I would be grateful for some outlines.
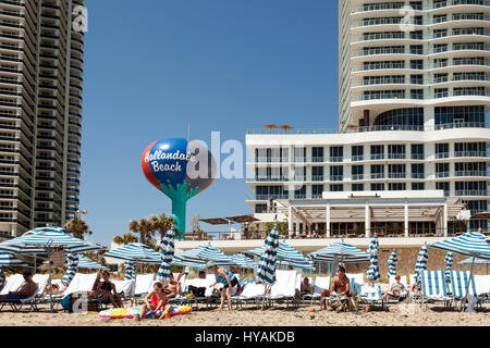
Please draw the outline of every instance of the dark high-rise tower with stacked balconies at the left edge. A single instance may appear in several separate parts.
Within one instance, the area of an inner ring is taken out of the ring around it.
[[[0,1],[0,236],[62,225],[78,208],[81,5]]]

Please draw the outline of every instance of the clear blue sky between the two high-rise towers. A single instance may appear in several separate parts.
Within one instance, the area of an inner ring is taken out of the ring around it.
[[[79,208],[95,243],[109,245],[131,219],[171,212],[140,169],[157,139],[185,138],[188,126],[208,144],[213,130],[244,144],[247,128],[269,123],[336,128],[336,1],[87,0],[87,9]],[[245,179],[215,181],[188,201],[187,227],[196,213],[252,213],[250,192]]]

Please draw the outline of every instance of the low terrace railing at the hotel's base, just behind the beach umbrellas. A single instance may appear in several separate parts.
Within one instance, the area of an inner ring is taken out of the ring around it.
[[[403,238],[405,237],[405,232],[403,228],[392,229],[390,232],[384,231],[375,231],[371,229],[371,235],[376,235],[380,238]],[[466,233],[465,228],[450,228],[448,232],[449,237],[458,236]],[[485,235],[490,236],[490,232],[482,232]],[[442,237],[444,236],[443,228],[432,228],[428,231],[413,232],[408,233],[408,237]],[[267,232],[265,231],[254,231],[254,232],[208,232],[208,233],[185,233],[184,240],[186,241],[203,241],[203,240],[262,240],[266,239]],[[281,235],[280,239],[324,239],[326,233],[315,233],[315,234],[306,234],[304,232],[299,233],[299,235],[293,235],[290,237],[289,235]],[[345,239],[345,238],[366,238],[364,233],[358,233],[354,231],[347,232],[339,232],[331,231],[330,238],[333,239]]]

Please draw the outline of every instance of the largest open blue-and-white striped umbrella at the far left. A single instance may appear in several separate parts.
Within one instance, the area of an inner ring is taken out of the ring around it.
[[[0,243],[0,251],[14,253],[46,253],[52,248],[61,248],[69,253],[103,249],[100,246],[72,237],[66,229],[58,227],[35,228],[21,237]]]

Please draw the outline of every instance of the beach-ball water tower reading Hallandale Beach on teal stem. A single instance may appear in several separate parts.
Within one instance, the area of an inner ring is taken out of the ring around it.
[[[216,161],[206,145],[181,138],[155,141],[143,153],[142,169],[148,182],[171,199],[175,229],[185,233],[187,200],[216,177]]]

